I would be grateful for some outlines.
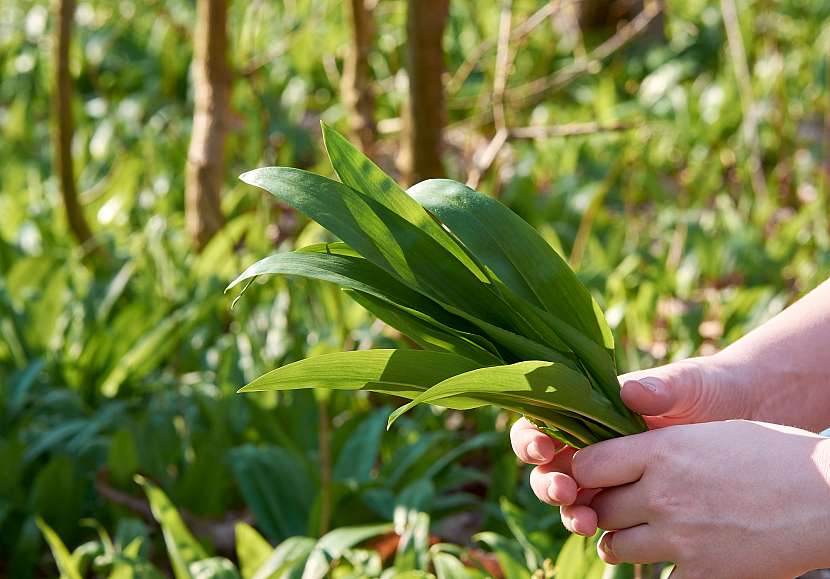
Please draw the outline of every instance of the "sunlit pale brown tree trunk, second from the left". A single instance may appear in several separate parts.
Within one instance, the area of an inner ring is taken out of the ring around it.
[[[224,224],[220,193],[225,173],[230,81],[227,0],[198,0],[193,50],[193,133],[187,152],[186,221],[197,249]]]

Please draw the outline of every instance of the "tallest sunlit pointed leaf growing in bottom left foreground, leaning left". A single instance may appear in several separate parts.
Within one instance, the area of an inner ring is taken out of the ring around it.
[[[142,476],[137,475],[135,480],[144,488],[153,518],[161,526],[164,543],[167,545],[167,555],[176,579],[193,579],[190,565],[207,559],[207,552],[190,534],[181,515],[167,495]]]

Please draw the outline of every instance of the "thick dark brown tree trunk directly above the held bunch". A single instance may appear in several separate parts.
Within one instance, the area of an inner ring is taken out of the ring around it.
[[[442,39],[449,0],[408,0],[407,9],[409,103],[401,165],[404,178],[411,184],[444,176],[441,153],[446,110]]]

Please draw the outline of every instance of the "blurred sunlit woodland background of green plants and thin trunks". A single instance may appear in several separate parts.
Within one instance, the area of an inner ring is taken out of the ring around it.
[[[67,577],[601,575],[588,543],[554,564],[512,416],[386,433],[379,396],[235,394],[406,343],[322,284],[231,308],[244,267],[323,236],[236,175],[328,173],[322,119],[402,181],[477,185],[643,368],[830,274],[828,58],[827,1],[4,0],[0,575],[54,575],[47,541]]]

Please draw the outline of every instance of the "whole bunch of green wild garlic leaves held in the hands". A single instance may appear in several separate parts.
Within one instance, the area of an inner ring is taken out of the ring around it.
[[[288,167],[241,179],[276,195],[341,242],[267,257],[264,274],[338,284],[423,349],[338,352],[287,364],[240,392],[369,390],[465,410],[519,412],[581,448],[645,429],[622,404],[611,331],[565,261],[518,215],[461,183],[404,191],[323,126],[340,182]]]

